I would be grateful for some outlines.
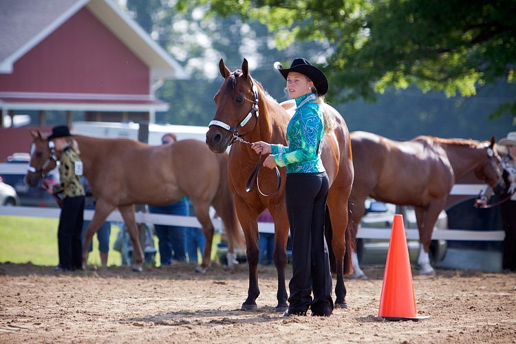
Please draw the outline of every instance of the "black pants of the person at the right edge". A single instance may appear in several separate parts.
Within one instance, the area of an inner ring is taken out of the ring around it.
[[[500,204],[505,239],[502,269],[516,271],[516,201]]]

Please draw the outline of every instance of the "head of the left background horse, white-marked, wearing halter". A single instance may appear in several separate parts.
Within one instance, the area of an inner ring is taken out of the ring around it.
[[[30,131],[30,135],[30,161],[24,181],[28,186],[35,187],[56,167],[57,158],[54,142],[47,140],[40,131]]]

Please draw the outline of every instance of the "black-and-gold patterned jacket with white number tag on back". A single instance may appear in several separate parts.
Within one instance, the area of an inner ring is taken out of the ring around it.
[[[66,147],[59,159],[59,178],[61,183],[56,186],[57,193],[63,197],[84,196],[84,186],[80,180],[83,175],[83,162],[72,147]]]

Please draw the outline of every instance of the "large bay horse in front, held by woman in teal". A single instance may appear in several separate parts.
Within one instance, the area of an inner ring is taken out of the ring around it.
[[[257,165],[257,160],[262,158],[251,149],[248,142],[265,141],[287,144],[286,129],[290,115],[266,93],[257,80],[250,76],[248,62],[245,58],[241,69],[237,69],[235,72],[230,72],[221,59],[219,72],[224,78],[224,83],[214,98],[216,112],[213,118],[219,124],[210,125],[206,133],[206,143],[212,151],[224,153],[228,145],[235,142],[229,152],[229,183],[235,197],[237,215],[246,237],[246,254],[249,265],[248,297],[241,308],[257,310],[256,299],[260,293],[257,274],[259,261],[257,217],[267,208],[275,223],[273,259],[278,274],[276,311],[283,312],[288,308],[285,268],[289,224],[284,195],[285,183],[283,182],[277,193],[274,193],[273,186],[277,183],[277,175],[274,170],[270,169],[261,169],[259,187],[252,192],[246,192],[246,181]],[[335,304],[337,307],[345,308],[346,290],[343,275],[351,272],[351,252],[354,245],[354,237],[346,230],[347,198],[353,182],[352,152],[349,131],[343,118],[330,105],[324,105],[324,111],[330,111],[336,122],[334,131],[330,135],[325,135],[321,142],[323,164],[330,179],[327,213],[329,211],[331,226],[330,221],[325,221],[325,234],[329,234],[332,238],[328,240],[328,246],[331,242],[336,258]],[[244,136],[245,140],[242,138]],[[260,160],[259,164],[262,161]],[[283,168],[280,171],[284,181],[286,169]],[[266,193],[274,193],[274,195],[267,197],[256,190],[259,188],[266,189]]]

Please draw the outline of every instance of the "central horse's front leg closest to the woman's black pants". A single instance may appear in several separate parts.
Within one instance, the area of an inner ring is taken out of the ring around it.
[[[276,306],[276,312],[285,312],[288,310],[288,294],[285,283],[285,269],[288,263],[287,257],[287,239],[288,239],[288,217],[286,215],[286,209],[284,204],[281,203],[277,208],[270,211],[272,218],[275,222],[275,246],[274,252],[272,252],[272,260],[276,266],[278,274],[278,290],[277,299],[278,304]]]

